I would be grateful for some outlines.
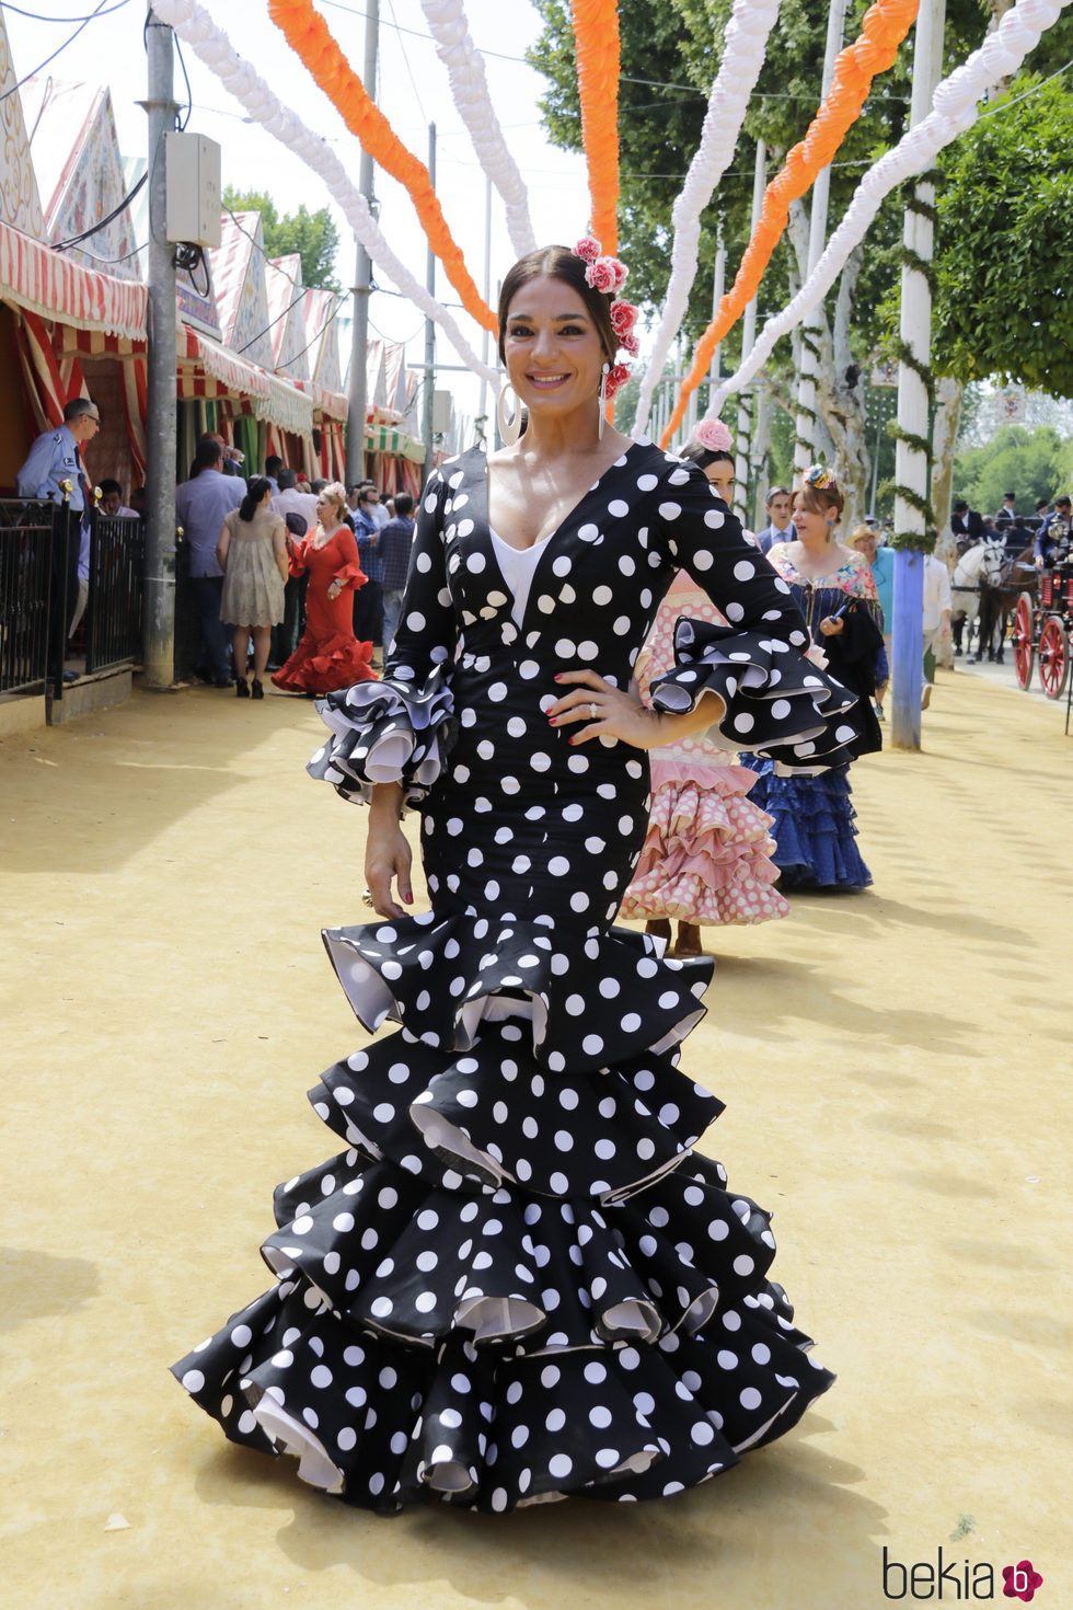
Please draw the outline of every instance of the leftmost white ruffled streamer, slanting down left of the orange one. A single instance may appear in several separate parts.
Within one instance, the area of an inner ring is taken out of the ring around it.
[[[497,372],[481,362],[452,314],[434,296],[430,296],[394,254],[373,219],[365,196],[351,184],[343,163],[327,140],[314,134],[290,106],[285,106],[272,93],[264,79],[257,77],[248,61],[243,61],[227,34],[216,26],[196,0],[153,0],[153,10],[161,23],[174,27],[182,42],[196,52],[206,68],[246,108],[254,122],[267,129],[280,145],[285,145],[323,179],[376,267],[383,269],[415,308],[436,320],[467,369],[487,380],[497,393]]]

